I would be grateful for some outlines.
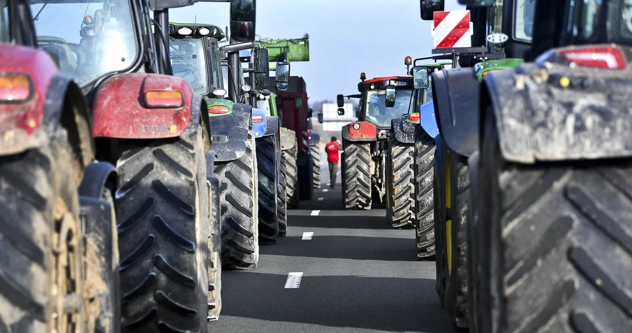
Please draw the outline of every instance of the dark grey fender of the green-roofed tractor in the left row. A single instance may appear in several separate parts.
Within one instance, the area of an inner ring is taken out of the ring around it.
[[[246,153],[248,127],[252,122],[252,107],[233,104],[233,112],[209,117],[210,145],[215,150],[216,162],[239,159]]]

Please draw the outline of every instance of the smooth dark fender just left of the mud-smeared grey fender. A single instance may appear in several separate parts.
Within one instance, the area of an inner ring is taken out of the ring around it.
[[[432,73],[432,99],[445,143],[459,155],[478,148],[478,83],[473,68]]]

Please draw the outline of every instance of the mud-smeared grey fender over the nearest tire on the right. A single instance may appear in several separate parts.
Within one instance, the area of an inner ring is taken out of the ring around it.
[[[560,87],[562,77],[573,85]],[[632,156],[631,90],[629,71],[528,63],[486,75],[480,100],[494,112],[504,159],[611,159]]]

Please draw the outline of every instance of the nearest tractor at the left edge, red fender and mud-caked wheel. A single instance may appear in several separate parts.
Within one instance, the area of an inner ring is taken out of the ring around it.
[[[31,13],[41,4],[3,7],[0,330],[119,332],[117,175],[94,160],[87,82],[60,71],[67,63],[47,44],[59,39],[40,44]]]

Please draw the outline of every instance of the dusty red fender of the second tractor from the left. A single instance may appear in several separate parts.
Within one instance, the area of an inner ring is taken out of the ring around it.
[[[176,90],[181,107],[147,107],[145,93]],[[98,88],[92,106],[95,137],[149,139],[173,138],[194,130],[200,121],[201,98],[183,78],[169,75],[127,73],[107,79]]]

